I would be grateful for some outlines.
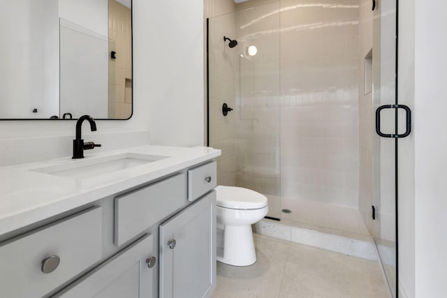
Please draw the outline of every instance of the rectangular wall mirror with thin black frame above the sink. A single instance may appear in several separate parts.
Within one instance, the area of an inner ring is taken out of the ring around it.
[[[131,0],[3,1],[0,37],[0,119],[131,117]]]

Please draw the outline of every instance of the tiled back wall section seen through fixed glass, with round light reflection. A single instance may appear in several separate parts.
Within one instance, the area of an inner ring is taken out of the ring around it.
[[[279,2],[236,13],[236,185],[268,198],[280,218]]]

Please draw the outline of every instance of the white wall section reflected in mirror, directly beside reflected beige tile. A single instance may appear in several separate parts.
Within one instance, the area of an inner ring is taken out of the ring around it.
[[[108,0],[59,0],[60,116],[108,118]]]

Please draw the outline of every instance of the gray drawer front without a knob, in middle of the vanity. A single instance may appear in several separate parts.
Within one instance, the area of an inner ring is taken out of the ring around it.
[[[186,174],[115,198],[115,244],[120,246],[181,208],[186,201]]]

